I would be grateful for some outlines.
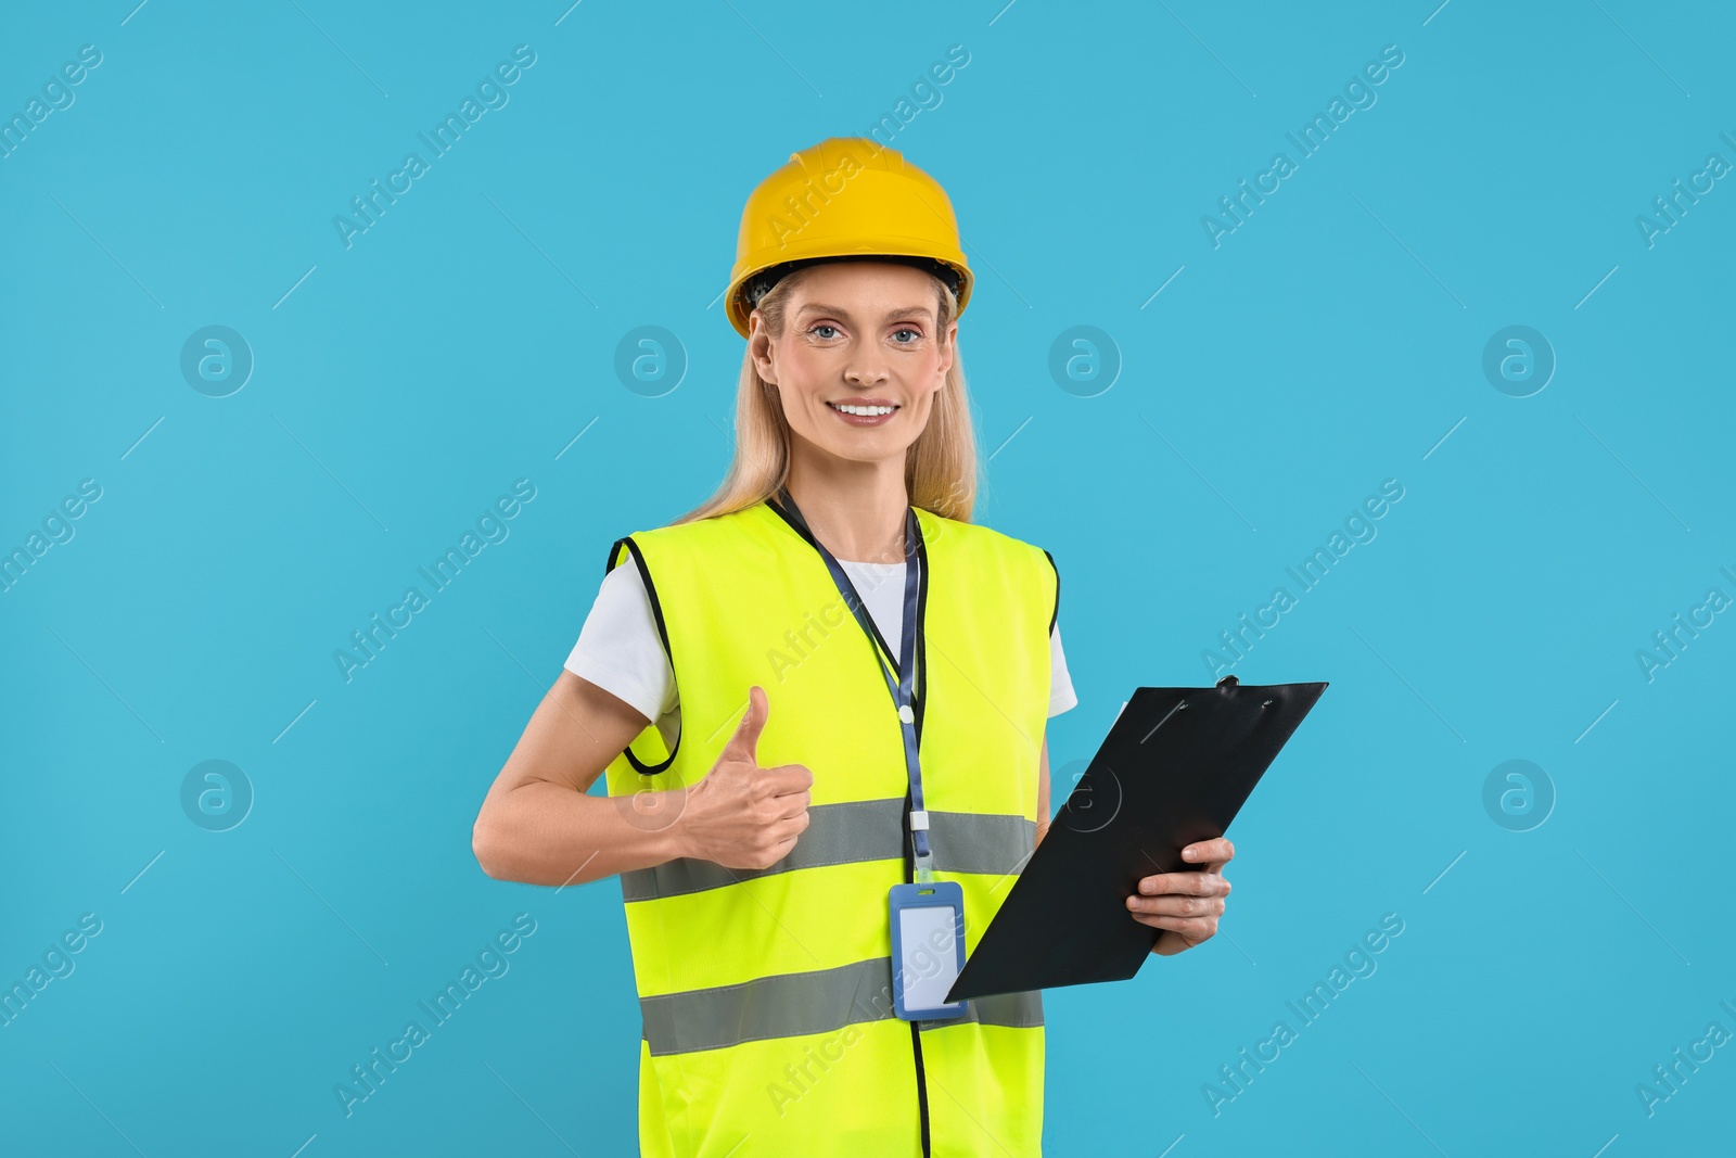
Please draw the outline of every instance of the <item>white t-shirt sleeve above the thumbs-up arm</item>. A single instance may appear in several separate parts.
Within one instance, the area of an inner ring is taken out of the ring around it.
[[[566,670],[620,696],[648,720],[675,708],[675,672],[651,615],[651,595],[632,559],[602,576]]]

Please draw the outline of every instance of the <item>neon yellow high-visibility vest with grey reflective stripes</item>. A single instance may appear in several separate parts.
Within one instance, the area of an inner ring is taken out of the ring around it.
[[[1040,547],[917,509],[922,783],[937,880],[976,948],[1036,840],[1059,575]],[[646,727],[611,797],[691,786],[766,689],[762,767],[814,774],[809,826],[769,870],[675,859],[621,873],[644,1017],[651,1158],[1038,1155],[1042,993],[950,1021],[892,1012],[887,894],[910,880],[908,778],[875,644],[826,564],[766,503],[618,540],[675,672],[681,734]],[[621,802],[635,823],[668,823]]]

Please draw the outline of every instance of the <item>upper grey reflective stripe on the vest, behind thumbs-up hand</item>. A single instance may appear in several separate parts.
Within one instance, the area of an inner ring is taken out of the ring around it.
[[[807,809],[807,828],[790,854],[771,868],[724,868],[681,858],[656,868],[621,873],[627,903],[654,901],[743,880],[821,865],[896,861],[904,858],[904,800],[851,800]],[[1036,847],[1036,825],[1023,816],[990,813],[929,813],[934,866],[955,873],[1012,873]]]

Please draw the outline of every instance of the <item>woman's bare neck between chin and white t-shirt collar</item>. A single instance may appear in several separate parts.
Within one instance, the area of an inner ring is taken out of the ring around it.
[[[835,559],[904,561],[910,493],[904,490],[903,455],[884,462],[816,462],[797,451],[786,484],[807,528]]]

